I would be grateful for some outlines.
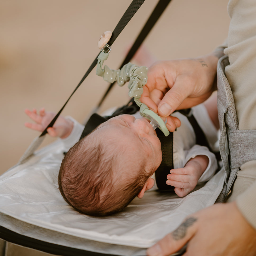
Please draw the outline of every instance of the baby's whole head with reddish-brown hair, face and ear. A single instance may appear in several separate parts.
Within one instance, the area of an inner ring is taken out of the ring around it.
[[[146,119],[120,115],[99,125],[67,152],[59,172],[63,198],[79,212],[122,210],[154,185],[161,143]]]

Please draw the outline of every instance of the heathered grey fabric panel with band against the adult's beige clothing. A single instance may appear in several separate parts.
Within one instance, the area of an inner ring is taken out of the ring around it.
[[[233,94],[225,76],[225,67],[229,65],[227,56],[223,56],[217,66],[218,76],[218,117],[220,122],[220,154],[227,173],[226,184],[216,202],[225,200],[241,165],[256,159],[256,131],[238,130],[238,118]],[[229,166],[231,164],[231,166]]]

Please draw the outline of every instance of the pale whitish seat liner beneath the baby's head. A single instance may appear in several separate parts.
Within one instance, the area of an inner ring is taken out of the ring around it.
[[[213,205],[226,178],[222,168],[204,186],[184,198],[174,193],[147,191],[142,199],[135,198],[118,214],[92,217],[78,213],[59,193],[57,177],[63,151],[63,144],[56,141],[0,177],[1,219],[9,218],[11,223],[11,218],[15,218],[24,225],[28,223],[95,244],[148,248],[175,230],[189,214]]]

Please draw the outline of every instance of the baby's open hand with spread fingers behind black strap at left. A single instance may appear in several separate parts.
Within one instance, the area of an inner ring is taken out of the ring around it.
[[[51,122],[51,120],[55,117],[55,113],[53,112],[45,112],[45,109],[42,108],[39,110],[39,114],[37,114],[37,111],[33,109],[33,111],[30,111],[28,109],[25,109],[25,113],[36,123],[25,123],[25,126],[28,128],[31,128],[36,131],[44,131],[44,129],[47,127],[47,125]],[[48,134],[51,137],[60,137],[60,138],[66,138],[69,136],[73,129],[73,122],[64,118],[63,116],[59,116],[53,125],[53,127],[49,127],[47,129]]]

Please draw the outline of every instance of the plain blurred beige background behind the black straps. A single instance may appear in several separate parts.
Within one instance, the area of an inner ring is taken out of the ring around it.
[[[15,165],[39,133],[24,127],[25,108],[58,111],[97,56],[99,36],[112,30],[131,0],[0,1],[0,174]],[[118,68],[157,0],[147,0],[112,45],[105,62]],[[157,59],[204,55],[228,33],[228,0],[173,0],[145,39]],[[95,69],[63,111],[82,122],[108,84]],[[101,112],[128,101],[116,86]],[[47,138],[44,145],[51,142]],[[40,182],[40,181],[38,181]],[[39,255],[10,249],[8,255]]]

